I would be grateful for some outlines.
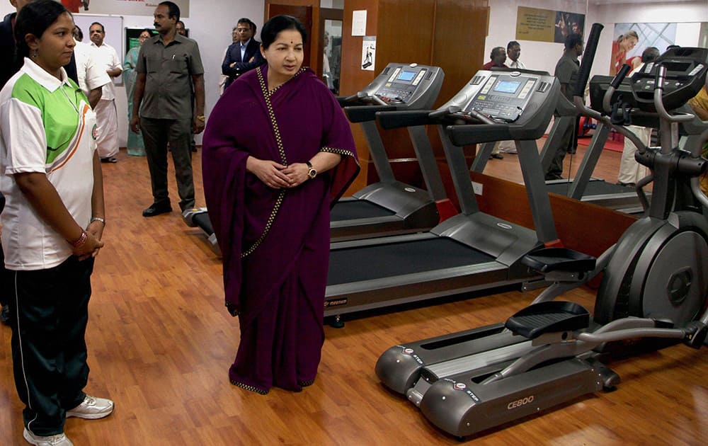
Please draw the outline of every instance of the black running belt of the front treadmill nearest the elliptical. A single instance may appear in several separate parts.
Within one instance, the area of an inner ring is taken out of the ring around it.
[[[327,285],[360,282],[494,261],[447,237],[336,249],[329,253]],[[338,266],[347,268],[338,268]]]

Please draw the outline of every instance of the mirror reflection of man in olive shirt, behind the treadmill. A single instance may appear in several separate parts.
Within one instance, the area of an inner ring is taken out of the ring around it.
[[[556,64],[554,76],[556,76],[561,84],[561,93],[571,102],[573,101],[573,89],[578,83],[578,72],[580,72],[578,57],[582,54],[583,36],[580,34],[571,34],[566,37],[563,57],[561,57]],[[556,147],[556,154],[553,157],[553,161],[551,161],[545,173],[547,181],[560,180],[563,178],[563,160],[567,152],[573,152],[575,150],[577,128],[578,124],[576,122],[574,128],[572,126],[568,127],[564,132],[559,147]]]

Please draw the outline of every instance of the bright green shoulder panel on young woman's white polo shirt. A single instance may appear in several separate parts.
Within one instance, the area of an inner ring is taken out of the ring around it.
[[[51,164],[74,139],[84,93],[78,86],[69,85],[51,92],[24,74],[15,82],[12,97],[40,110],[47,137],[47,164]]]

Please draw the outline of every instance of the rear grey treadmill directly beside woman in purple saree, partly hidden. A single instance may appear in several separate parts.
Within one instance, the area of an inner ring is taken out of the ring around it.
[[[440,67],[390,63],[362,91],[338,98],[350,122],[358,122],[364,132],[379,181],[335,203],[331,241],[427,231],[457,213],[450,211],[454,207],[445,195],[426,127],[408,128],[426,183],[423,190],[396,181],[376,125],[379,112],[431,108],[443,78]]]

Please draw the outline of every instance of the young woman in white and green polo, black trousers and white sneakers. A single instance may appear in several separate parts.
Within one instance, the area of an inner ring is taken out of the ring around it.
[[[113,411],[113,401],[83,390],[91,272],[105,213],[96,117],[63,68],[73,28],[56,1],[23,6],[15,39],[24,64],[0,92],[2,248],[11,277],[4,292],[23,436],[33,445],[71,445],[65,418]]]

